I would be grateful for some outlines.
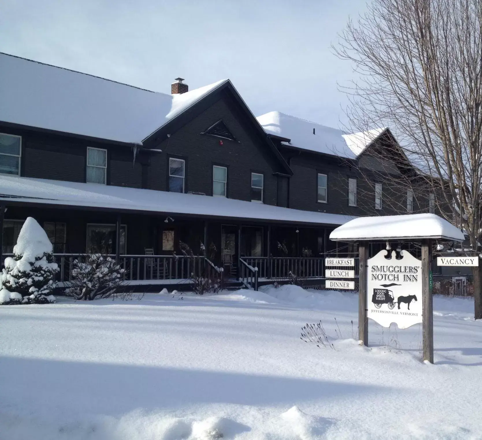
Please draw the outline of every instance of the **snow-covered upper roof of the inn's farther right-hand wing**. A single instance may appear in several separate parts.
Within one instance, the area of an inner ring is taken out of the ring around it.
[[[256,118],[265,131],[290,140],[289,145],[354,159],[386,128],[348,134],[281,112],[269,112]],[[314,132],[313,132],[314,130]]]

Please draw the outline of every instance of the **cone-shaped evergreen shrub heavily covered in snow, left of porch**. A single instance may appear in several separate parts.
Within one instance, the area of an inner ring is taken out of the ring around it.
[[[0,304],[55,302],[51,292],[58,266],[52,251],[45,231],[35,219],[28,217],[13,246],[13,257],[5,259]]]

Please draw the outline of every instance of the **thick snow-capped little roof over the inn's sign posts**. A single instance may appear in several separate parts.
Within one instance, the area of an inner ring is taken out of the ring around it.
[[[460,229],[435,214],[359,217],[339,226],[330,234],[330,240],[334,241],[422,238],[465,240]]]

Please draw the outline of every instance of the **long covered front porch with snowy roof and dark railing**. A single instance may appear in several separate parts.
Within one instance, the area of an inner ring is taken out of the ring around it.
[[[22,185],[7,181],[1,188],[12,193],[0,197],[1,260],[12,253],[23,221],[34,217],[54,246],[59,282],[68,281],[73,261],[89,252],[118,259],[133,285],[181,285],[209,267],[226,283],[253,288],[290,272],[321,279],[325,254],[357,256],[355,247],[328,240],[347,216],[195,194],[10,179]],[[182,253],[182,244],[192,256]]]

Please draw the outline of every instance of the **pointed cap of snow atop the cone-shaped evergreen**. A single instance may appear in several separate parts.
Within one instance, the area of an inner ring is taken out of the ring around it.
[[[13,253],[22,255],[25,261],[35,261],[35,257],[42,256],[44,252],[52,252],[52,243],[37,220],[27,217],[18,234],[17,244],[13,246]]]

